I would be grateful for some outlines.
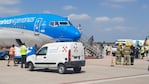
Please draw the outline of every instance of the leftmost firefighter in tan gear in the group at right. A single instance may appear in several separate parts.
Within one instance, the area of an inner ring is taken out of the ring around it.
[[[122,51],[123,51],[123,47],[122,47],[122,44],[119,43],[118,46],[117,46],[117,51],[116,51],[116,64],[117,65],[120,65],[121,64],[121,60],[122,60]]]

